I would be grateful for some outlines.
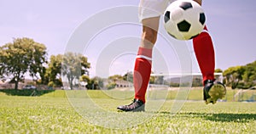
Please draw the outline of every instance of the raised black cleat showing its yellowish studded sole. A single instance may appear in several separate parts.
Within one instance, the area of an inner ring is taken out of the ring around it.
[[[218,81],[205,81],[204,100],[206,103],[216,103],[219,98],[224,98],[226,95],[226,87]]]

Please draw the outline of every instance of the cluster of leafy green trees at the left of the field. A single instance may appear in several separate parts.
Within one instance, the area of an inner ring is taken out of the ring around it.
[[[49,87],[62,87],[61,75],[64,75],[73,88],[74,79],[89,75],[88,69],[90,63],[81,53],[52,55],[48,61],[44,44],[30,38],[14,38],[0,47],[0,79],[15,83],[15,89],[26,74],[38,85]]]

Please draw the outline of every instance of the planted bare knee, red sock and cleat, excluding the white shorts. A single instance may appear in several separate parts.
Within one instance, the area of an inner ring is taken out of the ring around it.
[[[134,100],[129,105],[119,106],[123,111],[144,111],[145,94],[151,74],[152,49],[157,39],[160,17],[144,19],[141,45],[137,52],[133,73]]]

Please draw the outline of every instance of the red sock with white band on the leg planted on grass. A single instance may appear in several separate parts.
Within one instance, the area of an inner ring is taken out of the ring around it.
[[[146,102],[145,94],[151,74],[151,58],[152,49],[139,47],[133,73],[133,85],[135,88],[135,98],[142,100],[144,103]]]

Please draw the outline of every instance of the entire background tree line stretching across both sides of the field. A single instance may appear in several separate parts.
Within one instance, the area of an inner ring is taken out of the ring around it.
[[[81,81],[86,82],[88,89],[102,87],[102,78],[89,77],[90,63],[81,53],[51,55],[49,60],[47,56],[47,48],[44,44],[35,42],[31,38],[14,38],[13,42],[0,47],[0,80],[10,80],[15,83],[15,89],[17,89],[19,82],[24,81],[28,74],[38,85],[63,87],[61,76],[64,76],[71,89]],[[232,89],[249,88],[256,85],[256,60],[253,63],[230,67],[224,71],[217,69],[215,72],[222,72],[224,84]],[[125,75],[109,76],[108,89],[113,88],[117,80],[132,82],[132,72]],[[163,81],[163,76],[151,76],[149,82],[158,84]],[[193,80],[194,85],[201,86],[198,81],[197,79]]]

